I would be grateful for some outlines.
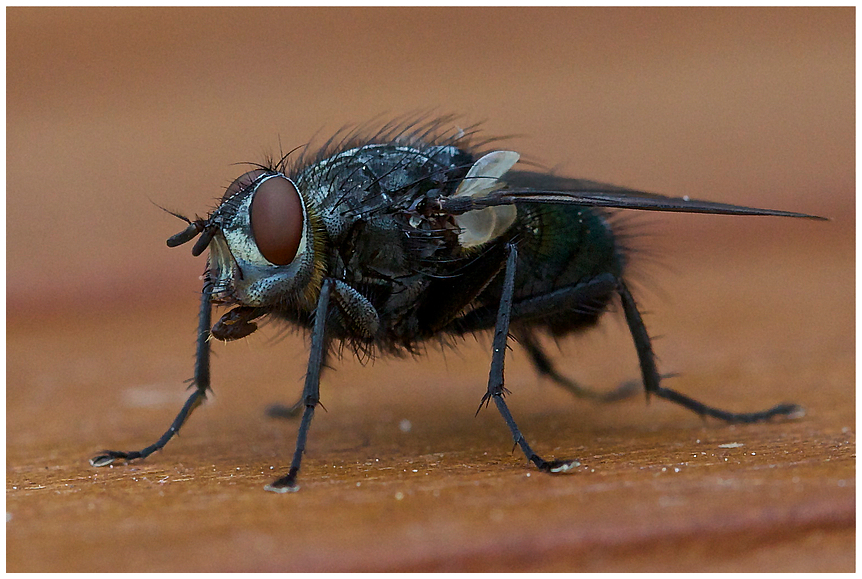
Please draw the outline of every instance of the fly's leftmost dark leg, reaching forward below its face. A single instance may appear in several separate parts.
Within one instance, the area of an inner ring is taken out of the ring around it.
[[[130,452],[122,452],[118,450],[105,450],[102,454],[94,456],[90,459],[90,464],[93,466],[108,466],[117,459],[135,460],[139,458],[147,458],[157,450],[161,450],[168,441],[177,434],[194,412],[195,408],[203,403],[206,398],[206,392],[210,387],[210,325],[212,323],[212,284],[207,282],[204,284],[203,292],[201,293],[201,309],[198,314],[198,338],[197,351],[195,356],[195,377],[192,380],[192,385],[195,387],[194,392],[189,396],[186,403],[183,405],[180,413],[174,418],[171,427],[168,428],[161,438],[155,443],[144,448],[143,450],[134,450]]]

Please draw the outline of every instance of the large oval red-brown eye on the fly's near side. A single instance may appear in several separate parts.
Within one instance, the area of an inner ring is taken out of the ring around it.
[[[302,239],[302,221],[299,191],[288,179],[272,177],[257,188],[251,202],[251,232],[267,261],[275,265],[293,261]]]

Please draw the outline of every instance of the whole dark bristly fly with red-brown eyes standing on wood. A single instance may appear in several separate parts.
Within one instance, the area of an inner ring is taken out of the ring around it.
[[[296,449],[287,474],[266,486],[295,491],[306,437],[319,404],[321,369],[348,347],[359,355],[416,352],[431,340],[493,331],[488,387],[479,408],[497,407],[515,443],[541,471],[574,460],[546,460],[521,434],[506,404],[503,363],[509,336],[541,374],[581,396],[602,396],[560,374],[540,335],[587,329],[619,300],[634,340],[643,387],[703,416],[759,422],[803,413],[780,404],[751,413],[707,406],[661,384],[650,337],[626,282],[631,252],[609,220],[613,210],[820,217],[673,198],[533,171],[515,170],[518,153],[479,142],[475,131],[443,130],[451,119],[392,124],[373,136],[342,133],[253,168],[225,191],[206,218],[168,239],[197,238],[209,250],[193,391],[173,424],[140,451],[91,459],[145,458],[182,427],[210,388],[210,338],[237,340],[262,320],[308,329],[310,354]],[[213,305],[230,308],[212,323]]]

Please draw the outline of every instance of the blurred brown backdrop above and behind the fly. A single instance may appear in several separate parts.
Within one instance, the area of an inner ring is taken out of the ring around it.
[[[845,226],[854,66],[852,8],[11,8],[9,315],[187,296],[203,259],[153,203],[205,214],[235,163],[417,111],[562,174]]]

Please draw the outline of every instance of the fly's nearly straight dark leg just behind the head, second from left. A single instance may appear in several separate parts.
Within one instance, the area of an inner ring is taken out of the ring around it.
[[[320,297],[317,300],[317,309],[314,312],[314,329],[311,334],[311,352],[308,356],[308,372],[305,375],[305,387],[302,398],[305,410],[302,413],[302,422],[299,424],[299,432],[296,435],[296,450],[290,463],[287,476],[268,484],[264,489],[276,493],[290,493],[299,490],[296,484],[296,475],[299,474],[299,465],[302,462],[302,454],[305,452],[305,441],[308,437],[308,428],[311,419],[314,418],[314,409],[320,403],[320,370],[323,367],[323,359],[326,355],[327,345],[326,312],[329,308],[329,293],[332,282],[330,279],[323,280],[320,288]]]

